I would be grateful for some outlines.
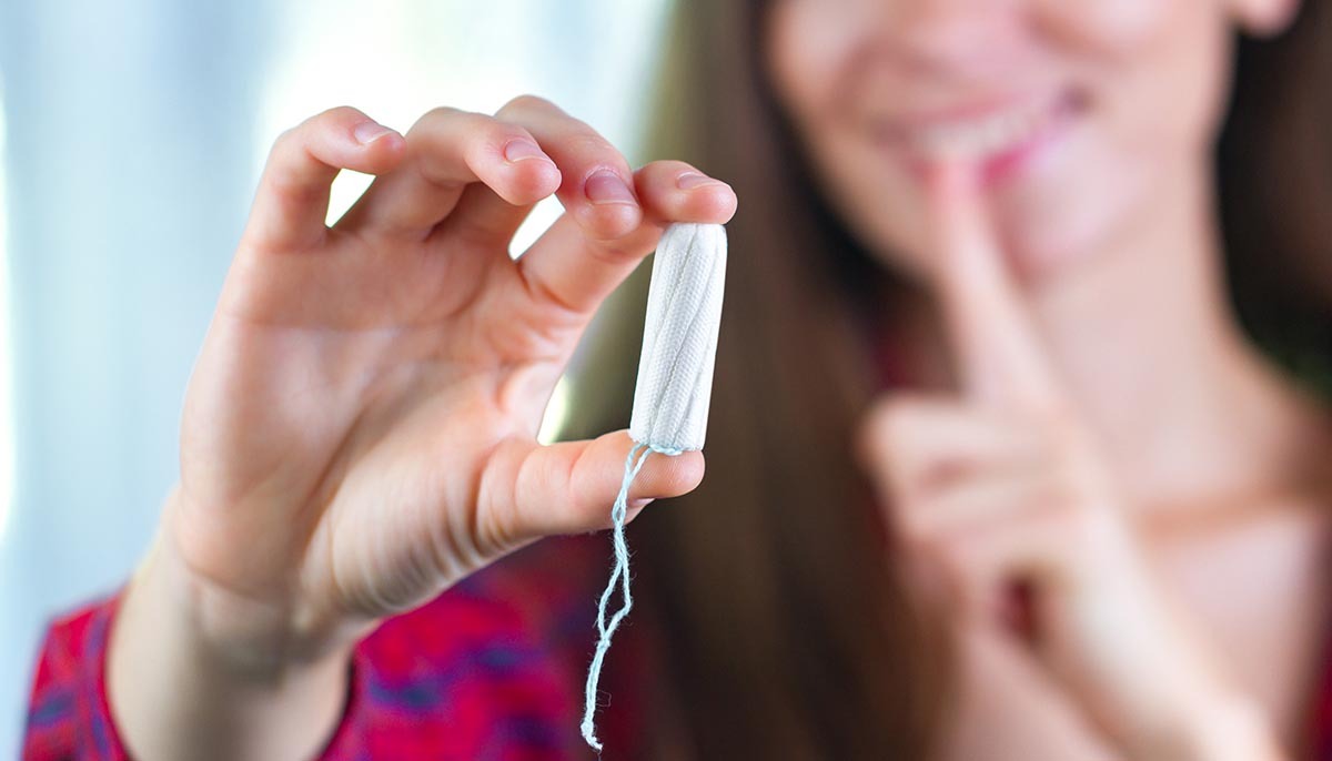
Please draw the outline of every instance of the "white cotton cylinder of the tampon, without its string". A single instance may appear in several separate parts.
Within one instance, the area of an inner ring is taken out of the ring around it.
[[[635,442],[703,448],[725,285],[725,228],[682,222],[662,233],[629,423]]]

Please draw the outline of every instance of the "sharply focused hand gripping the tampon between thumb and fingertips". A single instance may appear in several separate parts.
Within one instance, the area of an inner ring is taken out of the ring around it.
[[[342,168],[377,178],[330,229]],[[514,230],[551,193],[563,216],[513,261]],[[345,663],[382,616],[537,537],[607,526],[627,435],[541,446],[542,412],[662,228],[734,209],[685,164],[630,172],[535,97],[494,117],[437,109],[406,137],[350,108],[284,134],[189,383],[145,572],[166,580],[132,584],[117,640],[159,636],[129,620],[166,607],[216,672]],[[631,496],[702,475],[698,452],[654,459]],[[116,651],[117,713],[133,713],[148,664]],[[137,673],[117,681],[117,659]]]

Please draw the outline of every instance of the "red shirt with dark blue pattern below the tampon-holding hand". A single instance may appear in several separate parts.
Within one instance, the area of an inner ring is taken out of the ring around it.
[[[594,757],[578,722],[594,647],[594,572],[609,572],[609,552],[603,536],[546,540],[385,621],[354,651],[344,718],[321,761]],[[116,601],[51,628],[24,761],[128,761],[105,690]],[[634,637],[619,640],[613,660],[633,657]],[[615,698],[598,716],[607,757],[630,757],[633,694],[613,672],[603,689]]]

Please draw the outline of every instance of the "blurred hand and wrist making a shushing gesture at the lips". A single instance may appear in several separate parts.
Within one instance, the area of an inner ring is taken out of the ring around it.
[[[1152,579],[974,178],[947,168],[930,190],[966,398],[887,399],[864,436],[908,563],[944,589],[964,636],[1023,643],[1130,757],[1276,758],[1263,717]]]

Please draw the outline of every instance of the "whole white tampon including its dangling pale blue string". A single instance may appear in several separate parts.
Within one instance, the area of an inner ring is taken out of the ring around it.
[[[693,222],[666,228],[657,243],[653,282],[647,291],[634,415],[629,423],[634,447],[625,458],[625,478],[610,511],[615,559],[597,607],[599,637],[587,668],[583,696],[582,736],[598,753],[602,745],[594,722],[597,681],[610,649],[610,637],[634,605],[629,593],[629,547],[625,541],[629,487],[653,452],[678,455],[703,448],[725,285],[725,228]],[[610,613],[607,608],[617,587],[623,603]]]

